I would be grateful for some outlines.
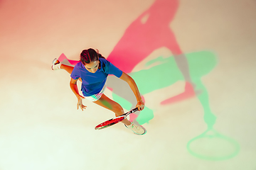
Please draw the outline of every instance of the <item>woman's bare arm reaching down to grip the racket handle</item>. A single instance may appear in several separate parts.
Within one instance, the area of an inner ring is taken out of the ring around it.
[[[140,96],[139,94],[139,89],[137,87],[137,84],[135,83],[134,79],[132,79],[132,77],[130,77],[128,74],[126,73],[122,73],[122,76],[119,78],[122,79],[124,81],[127,81],[127,84],[129,84],[130,88],[132,89],[132,91],[134,92],[134,95],[137,98],[137,108],[139,109],[139,111],[142,111],[144,109],[144,102],[142,101],[142,96]]]

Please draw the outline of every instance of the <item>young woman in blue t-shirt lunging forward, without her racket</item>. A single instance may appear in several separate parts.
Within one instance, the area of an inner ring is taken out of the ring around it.
[[[82,104],[82,99],[86,98],[97,105],[113,111],[116,116],[124,114],[124,110],[119,103],[112,101],[110,98],[105,96],[105,94],[103,94],[106,88],[105,83],[107,76],[109,74],[114,74],[114,76],[118,77],[119,79],[126,81],[137,98],[136,107],[139,109],[139,111],[144,109],[144,102],[142,101],[142,97],[139,94],[139,90],[134,79],[115,67],[111,62],[107,61],[105,57],[102,57],[98,51],[96,52],[92,48],[83,50],[81,52],[80,62],[78,62],[75,67],[61,64],[57,59],[55,59],[53,60],[52,69],[65,69],[65,71],[70,73],[70,88],[78,98],[77,106],[78,108],[81,108],[82,111],[87,107]],[[78,79],[82,81],[81,91],[83,96],[80,96],[78,92]],[[142,126],[135,125],[127,119],[123,120],[122,123],[124,123],[127,128],[132,130],[137,135],[143,135],[146,132]]]

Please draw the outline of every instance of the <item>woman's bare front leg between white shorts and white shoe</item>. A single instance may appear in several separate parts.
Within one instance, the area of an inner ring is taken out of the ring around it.
[[[105,94],[102,94],[101,98],[97,101],[94,101],[93,103],[96,103],[97,105],[100,105],[103,108],[107,108],[110,111],[113,111],[116,116],[124,114],[122,106],[120,106],[119,103],[112,101],[110,98],[105,96]],[[124,123],[125,125],[131,125],[131,122],[127,120],[127,118],[122,120],[122,123]]]

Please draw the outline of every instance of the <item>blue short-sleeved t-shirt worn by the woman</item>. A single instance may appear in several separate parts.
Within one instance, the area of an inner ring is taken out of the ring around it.
[[[82,79],[81,91],[84,96],[98,94],[105,85],[108,74],[114,74],[118,78],[122,76],[122,71],[111,62],[104,58],[99,58],[99,60],[100,69],[97,69],[95,73],[88,72],[85,69],[85,65],[82,62],[78,62],[70,75],[72,79]]]

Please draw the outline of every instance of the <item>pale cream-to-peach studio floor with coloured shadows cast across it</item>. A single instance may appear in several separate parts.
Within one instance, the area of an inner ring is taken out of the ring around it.
[[[256,1],[3,0],[0,25],[1,170],[256,169]],[[146,135],[94,130],[114,114],[77,111],[70,76],[50,69],[90,47],[118,67],[144,56],[131,75]]]

